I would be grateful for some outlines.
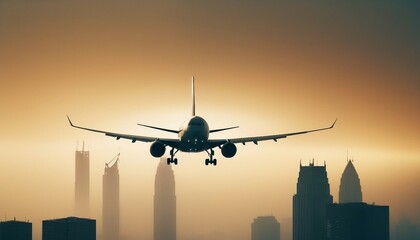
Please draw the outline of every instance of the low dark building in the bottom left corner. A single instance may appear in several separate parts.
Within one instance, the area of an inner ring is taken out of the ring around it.
[[[32,223],[16,220],[0,222],[0,240],[32,240]]]

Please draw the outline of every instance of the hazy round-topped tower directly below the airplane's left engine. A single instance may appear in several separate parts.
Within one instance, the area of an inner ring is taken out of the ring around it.
[[[176,240],[175,176],[164,158],[155,177],[153,236],[154,240]]]

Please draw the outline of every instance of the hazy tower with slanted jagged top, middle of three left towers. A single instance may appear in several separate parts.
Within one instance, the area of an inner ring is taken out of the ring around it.
[[[113,162],[114,164],[110,166]],[[105,164],[102,192],[102,233],[104,240],[120,239],[120,175],[119,154]]]

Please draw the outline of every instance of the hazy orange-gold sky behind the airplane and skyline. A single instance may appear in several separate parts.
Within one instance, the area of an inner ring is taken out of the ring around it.
[[[86,3],[88,2],[88,3]],[[152,239],[158,159],[149,144],[68,126],[175,137],[191,112],[213,137],[331,131],[238,146],[174,166],[179,239],[250,239],[259,215],[292,215],[299,161],[326,161],[338,201],[349,156],[364,201],[420,224],[420,4],[283,1],[0,0],[0,215],[73,214],[74,150],[91,151],[101,229],[104,163],[121,152],[125,239]],[[3,217],[1,217],[3,219]]]

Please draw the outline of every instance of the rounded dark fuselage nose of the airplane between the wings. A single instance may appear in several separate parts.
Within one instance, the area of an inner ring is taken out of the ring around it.
[[[180,150],[183,152],[204,151],[209,139],[209,133],[209,125],[206,120],[199,116],[189,118],[179,129]]]

